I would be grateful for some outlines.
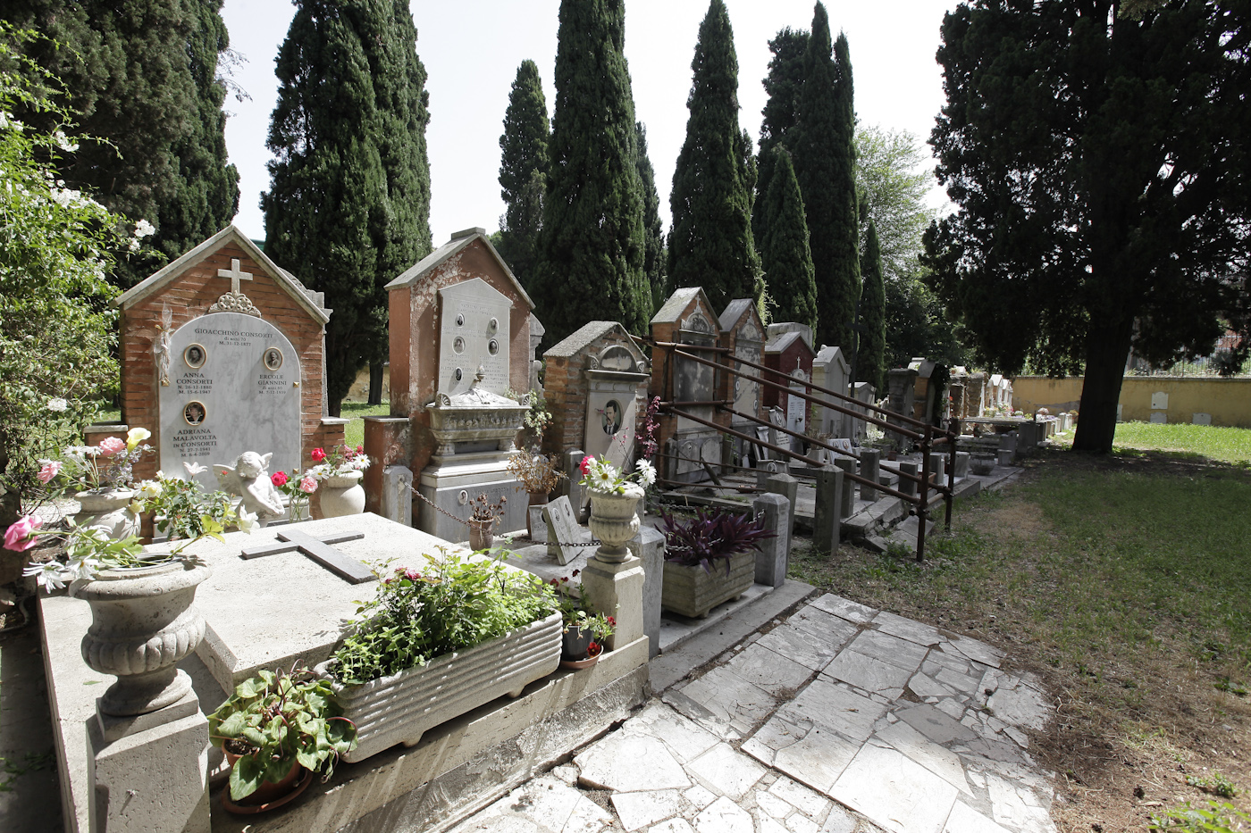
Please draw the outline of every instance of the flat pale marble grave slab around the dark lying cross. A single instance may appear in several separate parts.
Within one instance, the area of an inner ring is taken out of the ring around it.
[[[343,624],[355,615],[358,600],[374,598],[375,583],[352,584],[296,549],[243,558],[245,549],[280,544],[279,534],[291,532],[318,539],[363,533],[359,539],[332,547],[369,565],[392,559],[389,570],[412,567],[420,572],[428,565],[425,554],[439,555],[440,547],[449,553],[469,553],[373,513],[260,529],[251,535],[229,533],[224,543],[208,538],[196,542],[188,552],[213,568],[213,575],[195,594],[195,604],[208,623],[196,653],[226,690],[261,668],[290,668],[295,660],[311,668],[328,659]]]

